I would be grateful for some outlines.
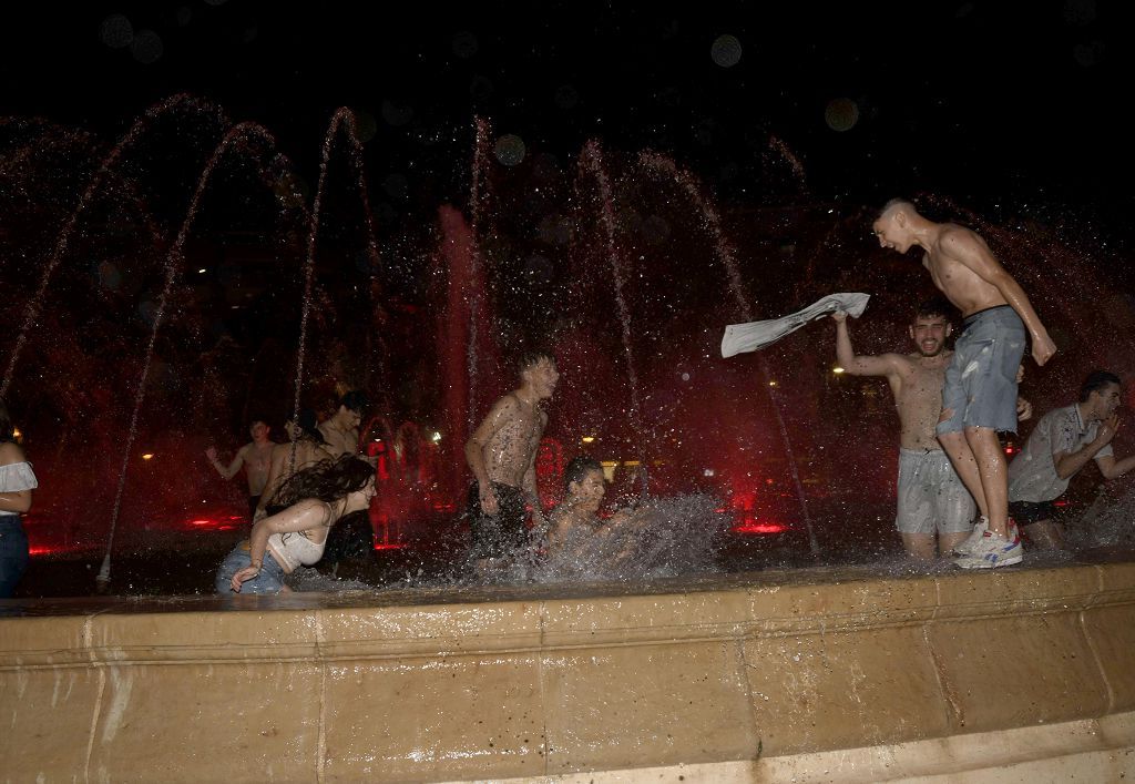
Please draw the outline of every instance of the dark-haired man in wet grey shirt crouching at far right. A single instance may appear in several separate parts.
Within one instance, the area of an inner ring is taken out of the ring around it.
[[[1053,502],[1088,460],[1095,460],[1105,479],[1135,468],[1135,454],[1117,460],[1111,450],[1120,393],[1119,376],[1090,374],[1079,387],[1079,401],[1041,417],[1009,464],[1009,514],[1036,547],[1063,547],[1063,532],[1052,519]]]

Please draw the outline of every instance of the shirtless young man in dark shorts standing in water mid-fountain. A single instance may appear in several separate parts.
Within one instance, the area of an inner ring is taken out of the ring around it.
[[[547,527],[536,491],[536,451],[548,424],[540,402],[555,392],[560,374],[555,358],[544,351],[523,355],[516,369],[520,387],[497,400],[465,442],[474,479],[469,489],[470,554],[482,578],[529,554],[526,502],[541,534]]]

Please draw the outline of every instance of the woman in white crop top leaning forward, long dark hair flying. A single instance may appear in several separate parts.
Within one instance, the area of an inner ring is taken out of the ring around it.
[[[365,512],[375,498],[375,469],[344,454],[309,466],[285,482],[268,504],[268,517],[252,527],[217,570],[217,593],[280,593],[284,575],[323,556],[333,525]]]

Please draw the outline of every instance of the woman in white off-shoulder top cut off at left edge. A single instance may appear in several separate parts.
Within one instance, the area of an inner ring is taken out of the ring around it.
[[[19,516],[32,508],[37,486],[8,409],[0,403],[0,599],[12,594],[27,568],[27,534]]]

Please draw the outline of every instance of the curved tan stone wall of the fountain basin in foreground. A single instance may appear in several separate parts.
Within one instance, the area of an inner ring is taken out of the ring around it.
[[[1130,552],[0,614],[2,781],[1135,774]]]

